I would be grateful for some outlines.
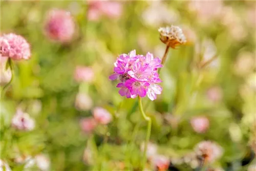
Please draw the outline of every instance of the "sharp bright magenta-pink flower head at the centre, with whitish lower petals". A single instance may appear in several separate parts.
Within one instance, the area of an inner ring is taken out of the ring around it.
[[[162,67],[161,60],[154,58],[150,52],[146,56],[136,55],[135,50],[129,54],[121,54],[114,66],[114,74],[109,78],[120,80],[117,88],[120,88],[121,96],[135,98],[147,95],[151,100],[155,100],[157,94],[161,94],[162,88],[158,84],[162,82],[158,74],[158,68]]]

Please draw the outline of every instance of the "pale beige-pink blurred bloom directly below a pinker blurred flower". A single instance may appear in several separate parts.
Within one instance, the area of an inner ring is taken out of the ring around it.
[[[75,107],[80,111],[88,111],[93,106],[92,98],[86,93],[78,93],[75,99]]]

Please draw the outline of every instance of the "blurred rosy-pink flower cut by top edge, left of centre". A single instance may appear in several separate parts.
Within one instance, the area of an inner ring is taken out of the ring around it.
[[[98,20],[102,15],[117,18],[122,13],[122,5],[111,1],[89,1],[88,19]]]

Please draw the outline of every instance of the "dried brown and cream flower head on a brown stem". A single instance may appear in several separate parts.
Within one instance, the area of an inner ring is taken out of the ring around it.
[[[186,42],[186,37],[178,26],[161,27],[158,31],[160,40],[171,48],[175,49]]]

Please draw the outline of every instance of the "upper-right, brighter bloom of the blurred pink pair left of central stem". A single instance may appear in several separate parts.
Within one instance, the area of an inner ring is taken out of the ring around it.
[[[94,119],[100,124],[108,124],[112,120],[112,115],[105,109],[96,107],[93,110]]]

